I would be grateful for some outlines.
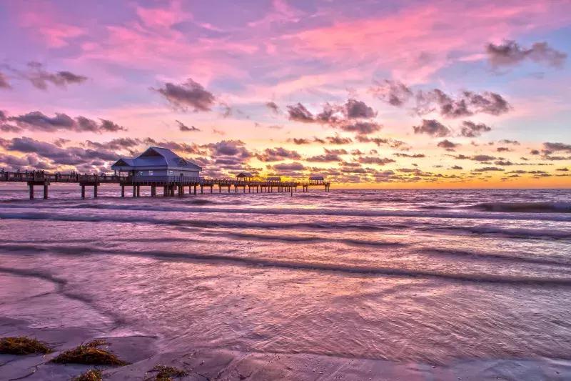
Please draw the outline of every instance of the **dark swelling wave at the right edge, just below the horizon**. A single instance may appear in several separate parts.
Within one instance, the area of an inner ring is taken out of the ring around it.
[[[469,209],[481,212],[505,213],[571,213],[571,202],[484,202],[465,207],[426,205],[420,209],[458,210]]]

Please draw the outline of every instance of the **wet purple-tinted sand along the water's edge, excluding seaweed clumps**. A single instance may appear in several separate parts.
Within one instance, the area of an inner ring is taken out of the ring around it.
[[[0,355],[0,380],[71,380],[89,369],[103,370],[103,380],[152,380],[155,365],[186,370],[179,380],[569,380],[571,360],[455,360],[444,365],[333,357],[307,353],[264,353],[224,349],[161,350],[158,337],[108,337],[86,327],[32,328],[31,322],[0,317],[0,337],[29,336],[48,342],[49,355]],[[123,367],[47,363],[59,352],[82,342],[106,339]]]

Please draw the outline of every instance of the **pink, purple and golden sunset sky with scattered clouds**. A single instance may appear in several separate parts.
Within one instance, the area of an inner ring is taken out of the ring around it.
[[[0,167],[571,186],[571,0],[0,0]]]

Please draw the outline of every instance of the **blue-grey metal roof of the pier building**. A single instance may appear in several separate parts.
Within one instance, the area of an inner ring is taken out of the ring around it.
[[[198,165],[189,162],[170,149],[162,147],[148,147],[145,152],[140,154],[134,159],[126,159],[121,157],[115,164],[111,166],[112,169],[119,169],[125,167],[132,167],[133,169],[141,167],[165,167],[201,171],[202,168]]]

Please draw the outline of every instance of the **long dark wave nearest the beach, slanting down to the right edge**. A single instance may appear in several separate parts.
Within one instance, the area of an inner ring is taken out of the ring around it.
[[[9,249],[0,245],[0,250]],[[19,246],[19,249],[26,249]],[[30,245],[27,249],[37,251],[38,247]],[[51,249],[54,249],[52,247]],[[62,247],[57,248],[57,252],[62,252]],[[53,250],[51,250],[53,252]],[[431,272],[421,271],[415,269],[396,269],[390,267],[366,267],[366,266],[350,266],[346,264],[329,264],[321,262],[291,262],[291,261],[276,261],[271,259],[252,258],[252,257],[234,257],[224,254],[203,254],[203,253],[181,253],[181,252],[163,252],[163,251],[118,251],[106,249],[90,249],[86,247],[70,247],[63,250],[64,254],[113,254],[113,255],[132,255],[135,257],[152,257],[155,259],[175,259],[180,261],[198,261],[209,263],[223,263],[223,264],[239,264],[245,266],[256,267],[277,267],[281,269],[294,269],[304,271],[334,271],[345,274],[357,275],[385,275],[394,277],[422,277],[428,279],[443,279],[457,282],[481,282],[492,284],[515,284],[520,286],[543,286],[543,287],[558,287],[558,286],[571,286],[571,279],[568,278],[547,278],[547,277],[505,277],[496,274],[461,274],[461,273],[447,273],[447,272]],[[34,276],[34,272],[27,272],[14,269],[6,269],[0,267],[0,272],[20,273],[24,276]],[[46,274],[39,275],[45,277]]]

